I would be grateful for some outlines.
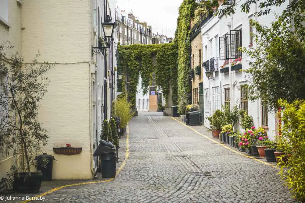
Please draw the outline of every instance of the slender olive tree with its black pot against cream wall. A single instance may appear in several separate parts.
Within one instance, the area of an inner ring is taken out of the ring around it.
[[[47,92],[45,74],[53,64],[38,63],[37,58],[23,63],[13,55],[7,63],[5,50],[9,43],[0,45],[0,151],[6,157],[13,151],[14,163],[9,171],[13,189],[21,193],[38,193],[42,174],[31,171],[37,164],[35,157],[42,154],[41,145],[47,144],[48,131],[37,120],[39,102]],[[41,160],[47,162],[47,160]]]

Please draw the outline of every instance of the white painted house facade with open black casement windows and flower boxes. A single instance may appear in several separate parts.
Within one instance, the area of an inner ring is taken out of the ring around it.
[[[239,5],[244,2],[246,0],[241,0]],[[204,62],[204,125],[206,127],[210,127],[207,117],[212,116],[215,110],[222,110],[222,105],[225,103],[229,103],[231,108],[238,104],[239,108],[244,108],[253,117],[256,127],[265,128],[268,136],[274,138],[277,131],[275,113],[268,113],[260,99],[253,103],[248,99],[245,85],[250,78],[243,70],[249,68],[249,61],[253,59],[241,53],[238,47],[256,47],[255,39],[250,35],[250,32],[256,34],[250,25],[250,19],[270,26],[271,21],[275,20],[274,13],[281,13],[288,4],[289,1],[286,1],[280,7],[272,8],[269,15],[261,17],[253,15],[254,12],[259,11],[259,4],[252,4],[248,14],[242,13],[238,6],[235,14],[228,17],[214,16],[201,27]],[[220,8],[223,6],[228,5],[220,5]],[[231,65],[235,59],[237,64],[241,63],[241,66]],[[206,71],[211,72],[209,78],[205,74]],[[240,132],[243,131],[240,124],[237,128]]]

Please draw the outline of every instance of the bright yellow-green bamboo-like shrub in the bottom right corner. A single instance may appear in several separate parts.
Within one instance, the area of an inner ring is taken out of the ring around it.
[[[279,147],[285,153],[284,156],[288,156],[280,158],[279,174],[293,197],[305,202],[305,100],[288,103],[280,99],[277,104],[283,109]]]

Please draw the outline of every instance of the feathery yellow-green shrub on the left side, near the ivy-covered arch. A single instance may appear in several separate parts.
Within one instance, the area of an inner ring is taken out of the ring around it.
[[[114,102],[113,117],[121,117],[120,128],[125,128],[129,120],[135,114],[131,111],[131,103],[127,102],[127,97],[122,96]]]

